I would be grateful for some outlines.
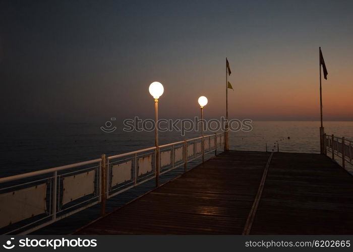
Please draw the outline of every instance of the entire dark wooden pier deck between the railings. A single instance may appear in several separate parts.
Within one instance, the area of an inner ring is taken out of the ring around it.
[[[319,154],[227,151],[74,234],[353,234],[353,176]]]

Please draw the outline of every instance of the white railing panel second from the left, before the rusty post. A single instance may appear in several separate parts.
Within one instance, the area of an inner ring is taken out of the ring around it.
[[[86,195],[93,194],[96,171],[91,170],[63,177],[63,205]]]

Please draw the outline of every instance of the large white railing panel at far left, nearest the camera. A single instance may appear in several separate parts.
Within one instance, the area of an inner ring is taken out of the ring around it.
[[[46,183],[0,195],[0,227],[46,213]]]

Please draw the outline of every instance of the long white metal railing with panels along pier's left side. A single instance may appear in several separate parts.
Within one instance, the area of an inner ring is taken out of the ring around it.
[[[0,232],[28,234],[224,147],[224,133],[0,178]]]

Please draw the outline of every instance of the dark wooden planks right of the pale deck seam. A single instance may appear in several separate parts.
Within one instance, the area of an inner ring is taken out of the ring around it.
[[[274,153],[250,234],[353,234],[353,176],[323,155]]]

